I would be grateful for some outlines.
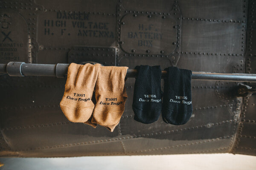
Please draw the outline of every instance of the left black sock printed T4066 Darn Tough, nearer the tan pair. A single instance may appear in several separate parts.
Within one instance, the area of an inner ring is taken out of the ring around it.
[[[138,71],[134,85],[132,108],[134,120],[149,124],[158,120],[162,111],[160,65],[136,66]]]

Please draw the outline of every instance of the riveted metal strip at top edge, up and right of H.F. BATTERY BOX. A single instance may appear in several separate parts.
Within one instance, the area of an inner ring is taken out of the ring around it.
[[[246,1],[234,0],[232,3],[225,0],[201,1],[179,0],[183,17],[207,22],[245,23]],[[196,10],[192,10],[196,9]],[[205,23],[207,23],[205,22]]]

